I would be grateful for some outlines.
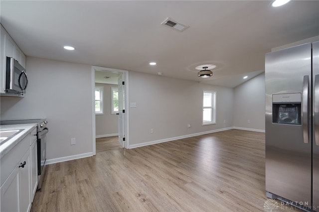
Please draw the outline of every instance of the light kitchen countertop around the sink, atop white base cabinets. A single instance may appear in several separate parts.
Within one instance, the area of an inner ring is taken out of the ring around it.
[[[36,127],[36,125],[36,123],[0,125],[0,130],[24,129],[0,146],[0,158],[2,158],[3,155],[9,152],[27,134],[29,134]]]

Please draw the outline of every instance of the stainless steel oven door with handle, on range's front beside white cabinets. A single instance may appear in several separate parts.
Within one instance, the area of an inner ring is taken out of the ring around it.
[[[37,150],[38,150],[38,175],[42,174],[42,170],[46,160],[46,134],[49,132],[48,128],[44,128],[38,132]]]

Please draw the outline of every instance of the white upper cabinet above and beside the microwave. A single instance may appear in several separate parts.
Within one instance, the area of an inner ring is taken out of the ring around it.
[[[25,68],[25,55],[0,24],[0,93],[5,90],[6,57],[13,57]]]

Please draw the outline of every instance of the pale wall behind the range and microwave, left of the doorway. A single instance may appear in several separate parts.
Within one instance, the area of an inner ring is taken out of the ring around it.
[[[1,119],[46,117],[48,161],[92,155],[91,66],[27,57],[26,71],[25,97],[1,97]]]

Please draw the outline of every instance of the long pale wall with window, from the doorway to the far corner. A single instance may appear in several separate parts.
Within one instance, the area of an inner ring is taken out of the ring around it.
[[[129,81],[130,103],[137,104],[130,108],[130,146],[233,126],[233,89],[138,72]],[[203,90],[217,92],[216,124],[201,125]]]

